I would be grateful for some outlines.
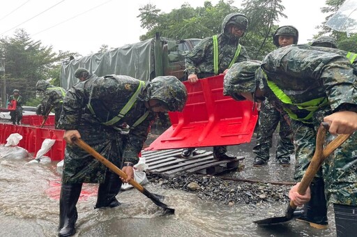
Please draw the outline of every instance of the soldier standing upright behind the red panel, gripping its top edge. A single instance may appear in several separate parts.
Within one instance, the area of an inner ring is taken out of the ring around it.
[[[196,83],[198,79],[227,72],[233,63],[247,61],[248,53],[245,47],[239,44],[239,39],[243,37],[247,29],[248,19],[245,15],[239,13],[227,15],[222,22],[222,33],[204,38],[185,56],[185,72],[188,75],[188,81]],[[182,155],[188,157],[194,151],[195,148],[187,148],[183,150]],[[213,147],[213,155],[216,159],[236,158],[226,153],[227,146]]]

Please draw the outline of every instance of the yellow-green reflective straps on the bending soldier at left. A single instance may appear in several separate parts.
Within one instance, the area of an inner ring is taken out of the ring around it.
[[[139,86],[137,86],[137,90],[135,91],[135,93],[131,96],[130,100],[126,103],[126,105],[124,105],[124,107],[121,109],[121,111],[119,112],[118,115],[116,115],[113,119],[107,121],[107,122],[103,122],[102,124],[104,125],[108,125],[108,126],[112,126],[115,130],[123,130],[121,128],[118,128],[116,126],[114,126],[114,123],[119,122],[121,119],[123,119],[123,117],[129,112],[129,110],[131,109],[132,105],[135,104],[135,102],[137,101],[137,96],[139,95],[140,92],[142,92],[143,86],[145,85],[145,82],[143,81],[139,81]],[[89,109],[89,111],[91,112],[91,114],[93,114],[94,116],[96,116],[96,113],[93,110],[93,107],[91,106],[91,104],[87,104],[87,107]],[[144,115],[142,115],[132,126],[131,128],[135,128],[137,125],[139,125],[140,123],[142,123],[142,121],[144,121],[146,119],[146,117],[149,115],[149,110],[145,112]]]

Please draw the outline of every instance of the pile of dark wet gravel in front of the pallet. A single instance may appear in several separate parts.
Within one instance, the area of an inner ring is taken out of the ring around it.
[[[266,183],[246,183],[227,181],[219,176],[178,173],[175,176],[147,174],[151,183],[158,183],[165,189],[196,192],[204,200],[218,201],[221,204],[268,204],[289,201],[289,185]]]

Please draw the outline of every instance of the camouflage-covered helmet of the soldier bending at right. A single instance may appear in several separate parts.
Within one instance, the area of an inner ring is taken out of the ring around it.
[[[260,66],[260,61],[234,63],[225,75],[223,94],[241,100],[240,93],[255,92],[257,86],[259,86],[259,80],[256,79],[255,73]]]

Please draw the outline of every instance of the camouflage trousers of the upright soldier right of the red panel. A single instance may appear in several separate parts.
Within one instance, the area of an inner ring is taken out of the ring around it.
[[[261,110],[259,112],[259,128],[257,132],[257,145],[253,148],[256,158],[261,158],[265,161],[269,160],[269,150],[272,146],[273,132],[278,127],[279,140],[278,147],[276,149],[275,158],[289,158],[294,152],[294,144],[292,142],[292,131],[284,119],[284,116],[271,105],[268,100],[261,104]]]

